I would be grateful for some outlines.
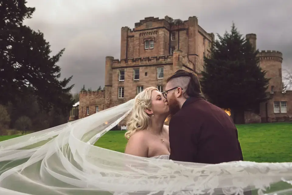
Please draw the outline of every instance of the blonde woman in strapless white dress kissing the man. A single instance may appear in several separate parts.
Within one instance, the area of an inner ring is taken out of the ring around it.
[[[169,128],[164,125],[169,106],[155,87],[146,88],[134,99],[125,137],[129,140],[126,154],[169,159]]]

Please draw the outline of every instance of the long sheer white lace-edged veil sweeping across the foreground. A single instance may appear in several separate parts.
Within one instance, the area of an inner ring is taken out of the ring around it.
[[[133,103],[0,142],[0,194],[292,194],[290,162],[198,164],[94,146]]]

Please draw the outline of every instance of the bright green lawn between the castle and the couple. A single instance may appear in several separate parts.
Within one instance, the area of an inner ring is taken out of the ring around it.
[[[237,125],[245,161],[292,162],[292,123]],[[125,131],[109,131],[96,146],[123,152],[127,144]],[[0,141],[21,135],[0,136]]]

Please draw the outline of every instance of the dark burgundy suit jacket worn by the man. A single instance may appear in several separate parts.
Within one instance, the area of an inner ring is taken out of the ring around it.
[[[186,100],[169,122],[170,159],[217,164],[243,160],[231,117],[202,98]]]

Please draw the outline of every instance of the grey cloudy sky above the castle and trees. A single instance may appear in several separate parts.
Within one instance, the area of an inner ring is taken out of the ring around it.
[[[257,34],[259,50],[283,53],[282,68],[292,69],[290,0],[27,0],[35,7],[25,24],[44,33],[53,54],[62,48],[62,77],[73,75],[72,92],[83,85],[104,86],[105,57],[120,58],[120,30],[154,16],[187,20],[197,16],[208,33],[224,34],[232,21],[241,34]]]

